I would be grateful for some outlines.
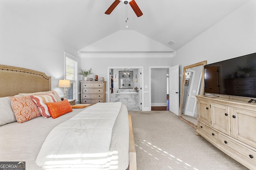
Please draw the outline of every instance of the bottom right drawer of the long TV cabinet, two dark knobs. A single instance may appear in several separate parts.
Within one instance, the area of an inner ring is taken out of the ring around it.
[[[228,147],[233,152],[236,152],[236,154],[240,154],[246,160],[256,164],[256,152],[254,150],[249,149],[248,147],[245,147],[244,145],[241,145],[240,143],[237,143],[223,135],[220,135],[220,143],[222,146]]]

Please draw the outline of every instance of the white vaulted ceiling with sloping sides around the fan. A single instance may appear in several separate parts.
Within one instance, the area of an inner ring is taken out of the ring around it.
[[[143,15],[138,18],[128,4],[127,22],[126,5],[122,2],[110,15],[104,14],[114,0],[1,0],[0,5],[76,50],[120,30],[134,30],[178,50],[248,1],[136,0]],[[170,40],[175,42],[173,46],[167,44]]]

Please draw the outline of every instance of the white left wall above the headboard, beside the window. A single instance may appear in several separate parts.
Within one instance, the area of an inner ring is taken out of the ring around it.
[[[0,7],[0,23],[0,64],[45,72],[52,90],[63,94],[57,86],[64,78],[64,51],[78,57],[77,51],[6,6]]]

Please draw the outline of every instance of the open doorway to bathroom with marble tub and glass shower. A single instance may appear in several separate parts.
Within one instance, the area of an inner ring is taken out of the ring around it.
[[[108,67],[108,102],[122,102],[128,110],[142,110],[142,68]]]

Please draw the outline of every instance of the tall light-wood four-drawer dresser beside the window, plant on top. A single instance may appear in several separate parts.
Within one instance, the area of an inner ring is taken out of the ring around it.
[[[106,82],[104,81],[80,81],[81,104],[96,104],[106,102]]]

